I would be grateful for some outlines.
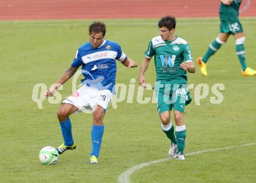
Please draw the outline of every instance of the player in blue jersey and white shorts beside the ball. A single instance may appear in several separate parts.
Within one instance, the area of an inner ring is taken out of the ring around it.
[[[63,101],[57,114],[64,143],[56,149],[59,154],[62,154],[69,149],[76,148],[69,115],[76,111],[93,111],[91,164],[98,163],[97,158],[104,133],[103,119],[115,86],[116,60],[126,67],[137,67],[137,64],[122,52],[118,43],[104,39],[105,32],[104,23],[97,21],[90,25],[90,42],[79,47],[71,66],[56,82],[56,85],[45,93],[46,97],[52,96],[82,66],[82,74],[85,78],[82,82],[83,86]]]

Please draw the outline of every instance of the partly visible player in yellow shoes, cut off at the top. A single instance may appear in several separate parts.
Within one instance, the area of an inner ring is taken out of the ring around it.
[[[221,6],[219,7],[219,19],[221,20],[219,36],[209,45],[204,57],[197,58],[197,63],[200,65],[202,75],[207,76],[206,63],[208,59],[217,52],[231,34],[236,38],[236,54],[242,67],[242,75],[256,75],[256,71],[247,67],[246,64],[246,52],[244,50],[244,41],[246,38],[244,37],[243,27],[239,20],[241,1],[242,0],[221,0]]]

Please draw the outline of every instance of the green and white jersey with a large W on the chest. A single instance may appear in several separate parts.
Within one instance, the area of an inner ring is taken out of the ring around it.
[[[163,41],[161,36],[157,36],[151,39],[145,56],[155,56],[157,81],[162,84],[187,83],[187,71],[180,68],[180,64],[193,61],[193,57],[184,39],[176,37],[174,41]]]

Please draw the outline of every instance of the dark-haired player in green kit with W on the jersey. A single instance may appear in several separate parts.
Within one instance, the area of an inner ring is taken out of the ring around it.
[[[185,105],[191,101],[187,90],[187,71],[194,73],[195,65],[189,44],[175,36],[175,17],[162,17],[158,22],[159,34],[152,38],[142,61],[139,83],[144,86],[144,73],[154,56],[157,82],[154,86],[158,112],[163,132],[170,139],[170,158],[184,160],[186,126],[183,120]],[[174,111],[176,133],[170,122],[170,111]],[[175,137],[176,134],[176,137]]]

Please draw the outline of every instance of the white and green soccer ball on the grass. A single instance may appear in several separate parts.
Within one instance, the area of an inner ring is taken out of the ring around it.
[[[58,162],[59,153],[54,147],[44,147],[39,152],[40,162],[44,165],[56,164]]]

